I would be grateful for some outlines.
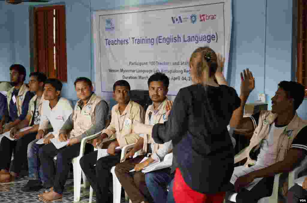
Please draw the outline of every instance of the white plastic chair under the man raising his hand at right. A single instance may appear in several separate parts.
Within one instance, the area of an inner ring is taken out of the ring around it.
[[[292,186],[294,186],[294,180],[297,179],[297,175],[307,168],[307,156],[305,159],[300,163],[299,166],[294,168],[292,171],[289,172],[288,175],[288,189],[290,189]],[[274,184],[273,184],[273,192],[270,197],[263,197],[260,200],[258,200],[258,203],[278,203],[279,201],[282,201],[278,196],[278,189],[279,189],[279,181],[280,176],[282,173],[276,174],[274,176]],[[228,196],[225,197],[225,199],[236,202],[235,198],[237,197],[238,193],[228,193]]]

